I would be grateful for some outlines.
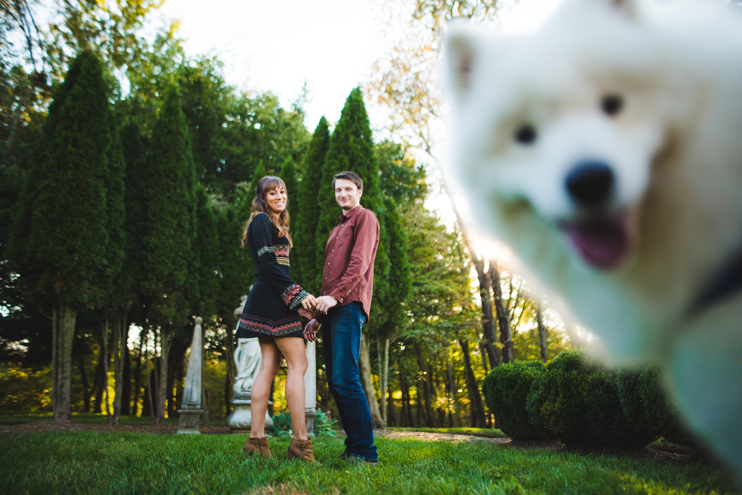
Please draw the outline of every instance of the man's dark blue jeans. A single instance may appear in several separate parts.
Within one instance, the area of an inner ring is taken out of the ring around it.
[[[345,454],[376,462],[373,423],[358,373],[361,328],[367,322],[360,302],[332,308],[322,318],[322,352],[327,385],[338,405],[340,422],[347,437]]]

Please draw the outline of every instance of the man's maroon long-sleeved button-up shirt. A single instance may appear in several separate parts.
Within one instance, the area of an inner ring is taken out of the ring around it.
[[[375,214],[361,205],[340,216],[325,247],[321,296],[338,299],[338,306],[361,302],[369,315],[378,233]]]

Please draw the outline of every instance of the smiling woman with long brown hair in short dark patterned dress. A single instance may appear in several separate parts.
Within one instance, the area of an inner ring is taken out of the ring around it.
[[[286,184],[278,177],[266,176],[257,182],[252,215],[245,226],[242,247],[249,247],[257,279],[240,316],[237,339],[260,339],[260,372],[252,385],[252,425],[246,454],[271,457],[265,436],[265,416],[271,385],[282,358],[289,369],[286,376],[286,402],[292,417],[294,442],[289,456],[314,462],[312,441],[304,422],[304,353],[300,312],[309,316],[317,305],[315,298],[290,277],[289,198]]]

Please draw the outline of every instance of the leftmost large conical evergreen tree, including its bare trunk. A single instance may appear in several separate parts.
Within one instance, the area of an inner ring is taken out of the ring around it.
[[[105,68],[90,51],[70,64],[49,107],[13,225],[11,256],[25,289],[36,300],[53,301],[56,420],[70,419],[77,310],[105,302],[107,282],[121,262],[110,245],[112,237],[122,241],[122,230],[108,188],[116,189],[114,196],[123,193],[123,176],[106,81]],[[116,217],[112,225],[109,213]]]

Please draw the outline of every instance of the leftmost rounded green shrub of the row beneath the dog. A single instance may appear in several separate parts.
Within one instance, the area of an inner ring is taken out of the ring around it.
[[[537,360],[516,361],[493,368],[482,383],[487,407],[495,415],[497,428],[514,439],[541,439],[528,419],[526,399],[533,380],[544,373]]]

